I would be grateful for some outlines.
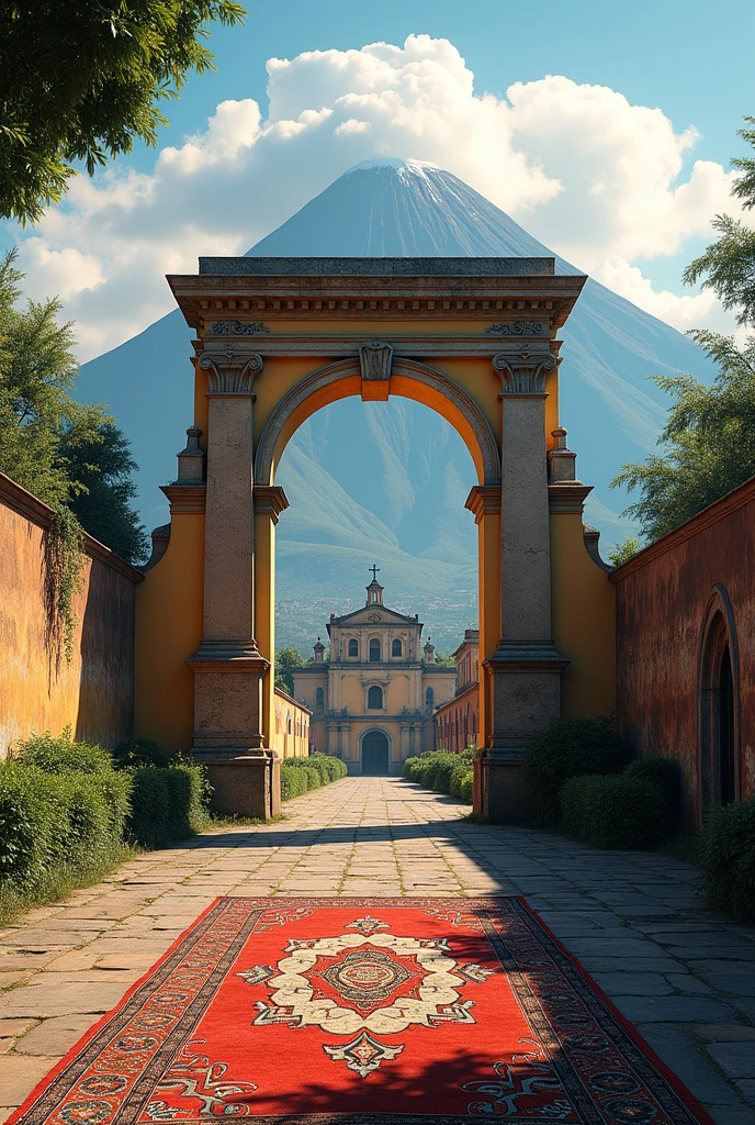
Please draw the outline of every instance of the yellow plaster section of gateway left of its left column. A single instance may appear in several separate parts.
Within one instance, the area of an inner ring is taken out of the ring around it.
[[[202,639],[204,515],[174,515],[162,559],[136,591],[137,738],[164,750],[191,749],[193,673],[185,663]]]

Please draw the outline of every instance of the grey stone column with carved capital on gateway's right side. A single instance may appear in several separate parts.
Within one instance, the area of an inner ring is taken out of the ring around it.
[[[529,811],[520,764],[527,739],[561,712],[551,618],[545,378],[556,358],[512,345],[493,359],[501,379],[501,637],[485,662],[492,741],[481,752],[481,803],[491,820]]]

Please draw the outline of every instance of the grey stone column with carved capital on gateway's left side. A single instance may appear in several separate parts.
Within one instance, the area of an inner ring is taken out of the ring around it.
[[[254,639],[252,411],[262,359],[238,348],[203,351],[197,362],[209,379],[209,422],[202,642],[189,658],[191,752],[207,765],[217,811],[267,818],[279,806],[280,772],[264,747],[269,662]]]

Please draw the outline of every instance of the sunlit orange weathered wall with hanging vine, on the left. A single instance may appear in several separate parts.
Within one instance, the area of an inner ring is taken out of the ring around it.
[[[45,531],[52,513],[0,474],[0,757],[33,731],[115,746],[134,717],[135,588],[142,575],[87,538],[73,657],[57,663],[45,609]]]

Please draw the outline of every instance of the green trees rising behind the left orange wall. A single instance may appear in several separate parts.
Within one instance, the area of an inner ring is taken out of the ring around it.
[[[0,258],[0,471],[48,504],[72,542],[80,522],[138,561],[146,540],[130,507],[128,442],[103,407],[73,397],[73,326],[58,323],[57,300],[18,307],[15,260],[15,251]]]

